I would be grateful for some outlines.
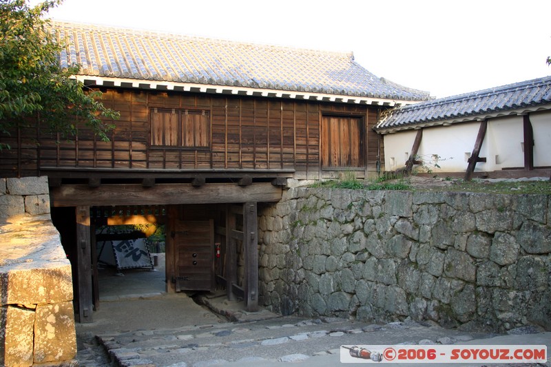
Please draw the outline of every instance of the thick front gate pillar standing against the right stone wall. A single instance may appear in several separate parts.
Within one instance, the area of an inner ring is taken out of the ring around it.
[[[256,202],[243,205],[243,249],[245,251],[245,308],[258,311],[258,218]]]

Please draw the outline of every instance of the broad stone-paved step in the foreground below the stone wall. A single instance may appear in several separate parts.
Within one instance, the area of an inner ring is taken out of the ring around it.
[[[236,361],[302,361],[338,354],[343,344],[451,344],[482,336],[416,322],[374,325],[338,318],[280,317],[97,338],[118,366],[200,367]]]

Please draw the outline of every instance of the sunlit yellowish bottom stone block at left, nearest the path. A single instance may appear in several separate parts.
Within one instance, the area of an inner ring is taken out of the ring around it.
[[[65,361],[76,356],[72,302],[37,306],[34,326],[34,361]]]

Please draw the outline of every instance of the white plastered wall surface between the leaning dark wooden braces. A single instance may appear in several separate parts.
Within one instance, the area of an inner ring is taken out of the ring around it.
[[[534,130],[534,167],[551,166],[551,112],[530,114]],[[464,172],[480,122],[456,123],[450,126],[425,127],[417,155],[433,172]],[[407,130],[384,136],[386,171],[405,167],[415,140],[416,130]],[[523,116],[503,116],[488,120],[488,129],[482,144],[480,157],[486,162],[477,162],[475,171],[499,171],[524,166]],[[433,154],[439,156],[433,166]]]

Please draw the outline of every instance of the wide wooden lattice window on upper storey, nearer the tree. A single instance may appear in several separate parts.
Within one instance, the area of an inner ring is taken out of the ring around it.
[[[209,148],[209,112],[196,109],[152,109],[151,145]]]

